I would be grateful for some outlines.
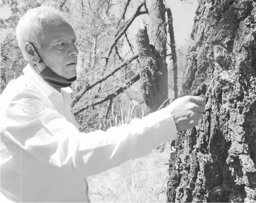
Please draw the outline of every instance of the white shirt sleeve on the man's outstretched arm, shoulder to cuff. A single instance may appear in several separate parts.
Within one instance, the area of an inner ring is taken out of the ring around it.
[[[20,94],[6,109],[1,134],[40,162],[90,176],[145,156],[162,142],[174,140],[176,126],[164,108],[105,132],[83,133],[39,95]]]

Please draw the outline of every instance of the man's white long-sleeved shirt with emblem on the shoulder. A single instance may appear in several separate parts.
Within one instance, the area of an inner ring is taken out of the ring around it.
[[[166,109],[106,132],[79,132],[71,112],[72,90],[55,90],[29,64],[23,73],[0,95],[0,192],[5,201],[90,202],[87,176],[145,156],[176,137]]]

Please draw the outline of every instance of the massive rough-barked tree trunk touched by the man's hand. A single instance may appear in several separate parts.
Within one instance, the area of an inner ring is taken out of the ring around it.
[[[201,0],[180,96],[206,96],[203,119],[172,143],[167,202],[256,201],[256,2]]]

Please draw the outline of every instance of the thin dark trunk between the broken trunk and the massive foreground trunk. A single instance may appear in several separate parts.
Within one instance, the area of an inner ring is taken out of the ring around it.
[[[178,98],[178,68],[177,68],[177,54],[175,49],[175,40],[174,40],[174,26],[173,26],[173,16],[171,10],[167,10],[168,17],[168,32],[170,34],[170,48],[172,51],[172,60],[173,60],[173,71],[174,71],[174,100]]]

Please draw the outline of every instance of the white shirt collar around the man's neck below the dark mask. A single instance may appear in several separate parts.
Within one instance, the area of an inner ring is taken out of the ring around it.
[[[43,80],[43,78],[37,73],[30,63],[28,63],[23,69],[23,73],[25,76],[28,76],[32,81],[39,85],[39,87],[41,87],[41,89],[47,94],[47,97],[49,97],[53,92],[60,94],[59,91]],[[70,87],[65,87],[61,88],[61,92],[71,94],[73,91]]]

